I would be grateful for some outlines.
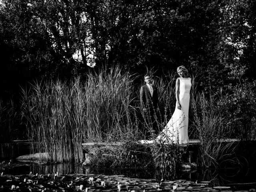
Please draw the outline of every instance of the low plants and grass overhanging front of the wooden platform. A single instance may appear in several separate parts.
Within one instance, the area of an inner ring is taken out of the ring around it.
[[[172,172],[180,166],[184,151],[174,144],[138,144],[134,141],[120,145],[99,144],[93,148],[90,166],[105,168],[156,168]]]

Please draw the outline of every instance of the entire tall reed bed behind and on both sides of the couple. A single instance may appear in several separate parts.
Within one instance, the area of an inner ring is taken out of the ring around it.
[[[155,138],[170,119],[175,108],[176,77],[152,75],[158,87],[160,111],[156,112],[158,132],[142,118],[139,101],[139,78],[112,67],[86,74],[86,80],[74,78],[70,82],[49,80],[34,82],[29,90],[22,90],[22,117],[26,120],[28,138],[39,147],[32,152],[46,152],[42,160],[79,163],[83,160],[84,142],[137,142],[150,132]],[[224,119],[214,106],[193,85],[193,120],[190,136],[201,142],[201,163],[218,166],[230,146],[218,142],[226,136]],[[144,82],[141,80],[141,82]],[[190,137],[190,138],[191,138]],[[34,146],[34,145],[32,145]]]

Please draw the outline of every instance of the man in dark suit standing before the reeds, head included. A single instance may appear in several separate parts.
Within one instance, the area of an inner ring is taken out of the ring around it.
[[[149,74],[144,75],[144,81],[146,85],[140,88],[140,104],[148,126],[152,125],[152,130],[157,131],[158,90],[152,85]]]

